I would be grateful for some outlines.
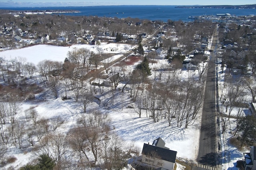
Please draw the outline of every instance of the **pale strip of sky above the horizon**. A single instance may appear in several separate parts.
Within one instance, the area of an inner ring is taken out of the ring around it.
[[[105,5],[245,5],[255,0],[0,0],[2,7],[105,6]]]

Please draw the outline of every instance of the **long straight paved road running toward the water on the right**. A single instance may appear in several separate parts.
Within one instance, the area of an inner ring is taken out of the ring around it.
[[[215,72],[215,51],[217,43],[217,32],[214,33],[214,39],[212,43],[212,50],[209,68],[206,79],[206,89],[204,97],[204,108],[202,113],[202,126],[200,134],[200,143],[198,150],[198,164],[196,169],[210,169],[204,167],[216,168],[218,152],[216,149],[218,143],[216,143],[216,104],[215,104],[215,86],[216,86],[216,72]]]

